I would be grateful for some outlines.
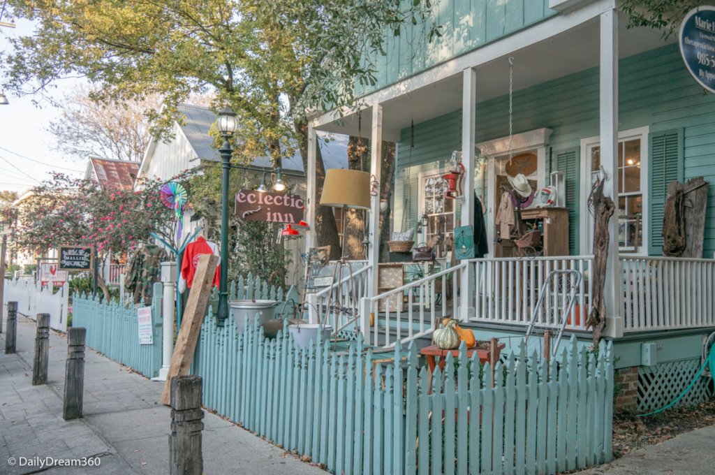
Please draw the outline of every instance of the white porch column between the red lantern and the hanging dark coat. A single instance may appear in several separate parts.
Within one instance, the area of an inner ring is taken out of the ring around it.
[[[464,189],[462,195],[462,225],[474,227],[474,144],[477,107],[477,75],[474,69],[463,71],[462,79],[462,165]],[[467,320],[474,316],[474,268],[468,265],[460,275],[458,318]]]

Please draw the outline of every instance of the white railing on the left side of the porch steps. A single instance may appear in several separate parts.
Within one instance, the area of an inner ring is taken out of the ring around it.
[[[335,263],[333,264],[335,265]],[[320,318],[321,323],[333,325],[333,332],[337,333],[355,322],[354,316],[338,311],[336,307],[339,306],[350,311],[355,309],[356,312],[360,309],[360,299],[368,295],[372,266],[368,265],[367,261],[351,261],[351,265],[353,266],[352,275],[349,272],[350,268],[345,266],[340,270],[337,282],[320,292],[307,295],[306,300],[311,304],[308,308],[311,323],[317,323]],[[351,280],[352,283],[355,283],[354,293]]]

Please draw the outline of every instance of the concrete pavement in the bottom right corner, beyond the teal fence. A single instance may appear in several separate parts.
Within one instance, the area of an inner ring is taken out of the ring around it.
[[[715,426],[686,432],[578,475],[715,474]]]

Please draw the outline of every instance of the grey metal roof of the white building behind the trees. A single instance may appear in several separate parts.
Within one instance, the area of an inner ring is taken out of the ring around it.
[[[201,160],[215,162],[220,160],[219,152],[213,147],[213,139],[209,136],[209,129],[216,122],[216,114],[207,107],[192,104],[179,104],[177,109],[184,114],[184,124],[180,127],[197,157]],[[330,142],[320,140],[319,145],[326,169],[347,168],[347,137],[335,137]],[[270,157],[265,156],[257,157],[251,162],[251,166],[270,168],[272,165]],[[282,168],[283,170],[305,172],[300,151],[296,150],[295,155],[284,158]]]

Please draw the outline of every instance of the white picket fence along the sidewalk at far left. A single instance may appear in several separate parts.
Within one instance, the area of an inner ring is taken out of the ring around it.
[[[21,278],[5,280],[4,302],[17,302],[17,311],[36,318],[38,313],[49,313],[49,325],[59,331],[67,330],[69,284],[65,283],[55,293],[34,280]]]

